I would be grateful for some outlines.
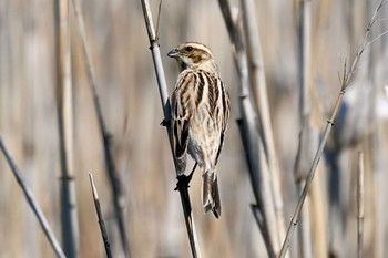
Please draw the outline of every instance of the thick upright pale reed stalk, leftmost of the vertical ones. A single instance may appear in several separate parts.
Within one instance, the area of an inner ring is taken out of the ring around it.
[[[73,171],[73,96],[69,1],[55,1],[57,111],[61,157],[61,226],[68,257],[79,256],[79,223]]]

